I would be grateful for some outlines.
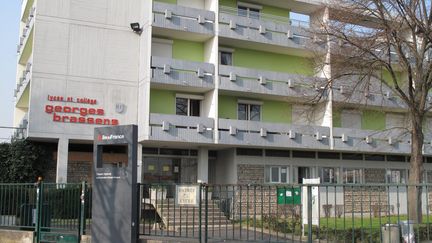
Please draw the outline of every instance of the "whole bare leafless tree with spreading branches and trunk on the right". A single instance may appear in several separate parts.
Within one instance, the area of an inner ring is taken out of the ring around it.
[[[391,90],[409,118],[409,184],[422,182],[423,123],[432,88],[432,8],[428,0],[338,0],[326,5],[327,18],[313,34],[326,43],[315,60],[330,67],[327,86],[345,82],[364,97],[371,90]],[[322,46],[321,46],[322,47]],[[349,82],[347,82],[349,81]],[[389,95],[382,92],[383,96]],[[408,188],[410,219],[421,222],[421,187]]]

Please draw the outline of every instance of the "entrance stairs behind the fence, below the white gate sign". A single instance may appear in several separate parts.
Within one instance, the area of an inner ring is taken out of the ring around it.
[[[168,231],[198,231],[200,225],[199,207],[177,206],[173,198],[157,200],[153,203],[156,212]],[[204,229],[206,220],[205,203],[201,204],[201,225]],[[209,228],[230,227],[232,223],[217,205],[217,201],[208,200],[207,222]]]

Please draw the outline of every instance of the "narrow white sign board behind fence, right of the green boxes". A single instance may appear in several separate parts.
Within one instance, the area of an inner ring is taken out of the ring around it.
[[[320,178],[305,179],[303,178],[303,185],[307,184],[320,184]],[[308,194],[307,187],[302,187],[302,225],[308,224]],[[318,186],[312,187],[312,225],[319,226],[319,188]]]

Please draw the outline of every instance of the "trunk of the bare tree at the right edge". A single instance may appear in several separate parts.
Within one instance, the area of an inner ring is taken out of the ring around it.
[[[411,114],[411,160],[408,186],[408,218],[415,223],[422,222],[422,183],[423,176],[423,130],[422,117]]]

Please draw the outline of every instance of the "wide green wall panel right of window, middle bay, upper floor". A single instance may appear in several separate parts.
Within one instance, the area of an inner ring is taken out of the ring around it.
[[[263,52],[250,49],[235,49],[234,66],[256,68],[312,76],[313,68],[307,58]]]

